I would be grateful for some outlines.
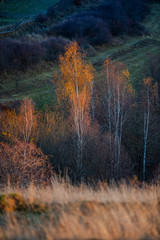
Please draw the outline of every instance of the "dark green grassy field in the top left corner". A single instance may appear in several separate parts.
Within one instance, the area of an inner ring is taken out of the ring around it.
[[[12,24],[43,12],[59,0],[12,0],[0,3],[0,25]],[[4,16],[4,17],[3,17]]]

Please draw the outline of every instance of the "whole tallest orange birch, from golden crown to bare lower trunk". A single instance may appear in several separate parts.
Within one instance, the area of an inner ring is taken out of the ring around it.
[[[86,64],[78,44],[72,42],[60,56],[60,80],[57,86],[58,100],[65,99],[69,107],[70,126],[76,136],[76,169],[82,173],[83,150],[91,123],[91,98],[93,93],[94,69]]]

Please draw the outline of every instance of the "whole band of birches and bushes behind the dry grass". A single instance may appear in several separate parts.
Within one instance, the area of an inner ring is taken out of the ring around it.
[[[47,183],[52,167],[62,175],[67,171],[74,182],[157,176],[157,82],[146,77],[137,96],[127,66],[110,59],[97,78],[76,42],[59,62],[54,112],[38,112],[24,99],[16,110],[1,113],[1,179]]]

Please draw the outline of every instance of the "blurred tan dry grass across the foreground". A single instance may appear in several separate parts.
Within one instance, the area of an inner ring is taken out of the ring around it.
[[[45,211],[1,213],[0,239],[160,239],[159,186],[93,189],[54,179],[44,189],[3,192],[17,192],[28,206],[37,203]]]

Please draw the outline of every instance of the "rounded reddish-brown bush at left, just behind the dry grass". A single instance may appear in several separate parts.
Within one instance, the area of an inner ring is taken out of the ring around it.
[[[0,184],[14,186],[49,183],[53,174],[47,157],[32,143],[0,143]]]

